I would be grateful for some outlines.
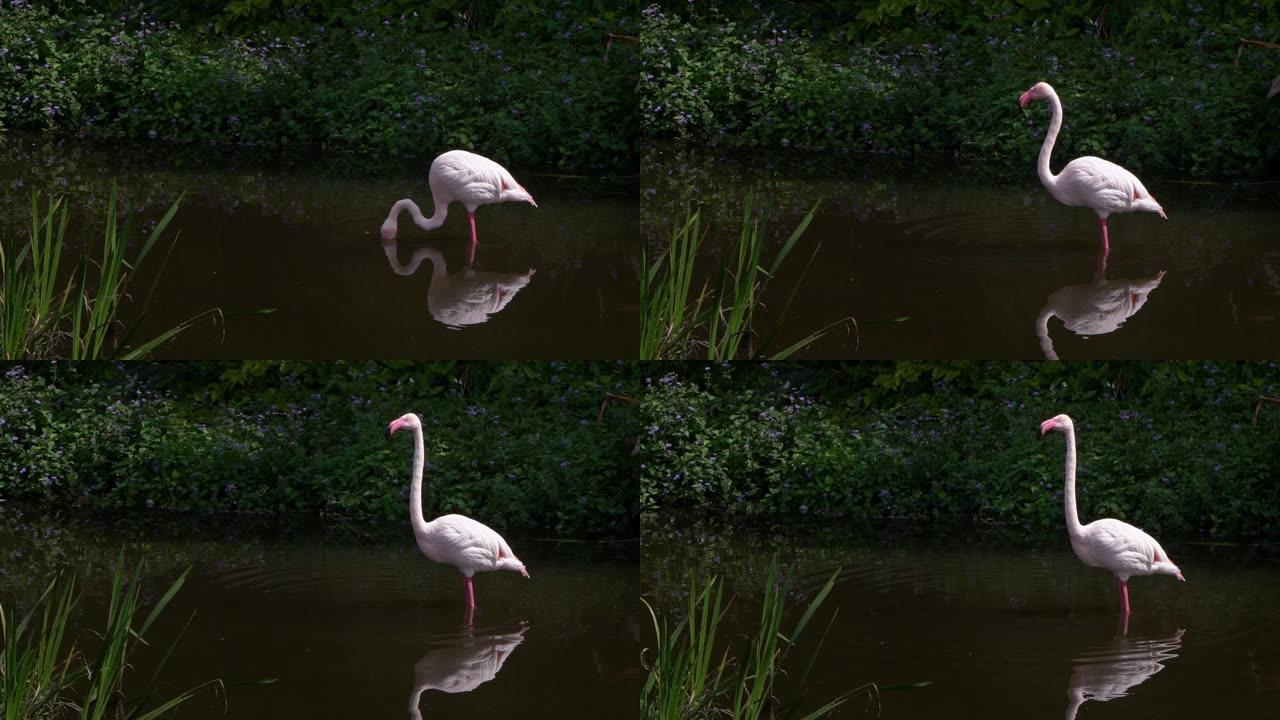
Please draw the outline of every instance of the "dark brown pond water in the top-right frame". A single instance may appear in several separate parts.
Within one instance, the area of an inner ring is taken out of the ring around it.
[[[774,348],[852,318],[810,359],[1267,359],[1280,354],[1280,182],[1144,178],[1169,220],[1114,215],[1100,263],[1097,217],[1052,200],[1034,167],[659,147],[644,161],[645,242],[701,206],[703,269],[736,240],[742,204],[772,209],[772,259],[820,200],[758,331]]]

